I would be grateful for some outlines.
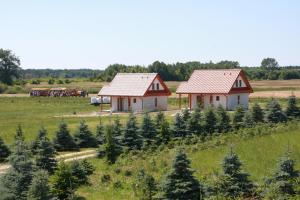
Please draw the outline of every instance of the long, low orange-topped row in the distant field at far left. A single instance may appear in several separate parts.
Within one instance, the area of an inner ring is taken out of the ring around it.
[[[85,97],[88,96],[88,92],[77,89],[67,88],[32,88],[30,96],[38,97]]]

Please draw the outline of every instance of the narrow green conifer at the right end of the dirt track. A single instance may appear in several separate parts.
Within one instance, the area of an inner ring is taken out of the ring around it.
[[[104,152],[109,164],[114,164],[121,153],[121,147],[118,145],[117,138],[113,134],[111,125],[106,127]]]

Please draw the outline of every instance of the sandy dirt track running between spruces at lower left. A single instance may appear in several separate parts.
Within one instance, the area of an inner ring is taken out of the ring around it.
[[[59,156],[56,156],[56,159],[58,161],[70,162],[70,161],[74,161],[74,160],[83,160],[86,158],[92,158],[92,157],[96,157],[96,156],[97,156],[96,150],[85,150],[85,151],[80,151],[80,152],[59,155]],[[8,163],[0,164],[0,174],[4,174],[9,168],[10,168],[10,165]]]

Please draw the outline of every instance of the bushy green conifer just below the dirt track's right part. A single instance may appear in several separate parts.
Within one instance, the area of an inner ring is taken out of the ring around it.
[[[95,168],[86,160],[71,163],[71,172],[77,178],[77,185],[88,184],[88,177],[94,173],[94,170]]]

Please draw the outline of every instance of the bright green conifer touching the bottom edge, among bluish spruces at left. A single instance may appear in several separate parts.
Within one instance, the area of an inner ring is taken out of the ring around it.
[[[73,176],[71,167],[64,162],[58,165],[51,182],[52,194],[61,200],[73,196],[78,187],[77,178]]]

